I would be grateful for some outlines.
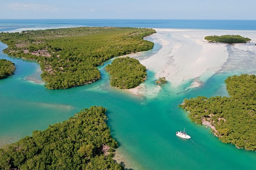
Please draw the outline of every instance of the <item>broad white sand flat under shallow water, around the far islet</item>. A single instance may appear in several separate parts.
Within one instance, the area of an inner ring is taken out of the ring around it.
[[[162,48],[148,58],[140,54],[129,55],[137,58],[155,77],[166,77],[171,88],[179,88],[184,83],[190,83],[187,88],[201,86],[207,79],[220,72],[228,61],[229,44],[209,43],[204,40],[208,35],[239,34],[251,38],[246,44],[234,44],[238,49],[256,53],[256,31],[247,30],[200,30],[200,29],[155,29],[157,33],[150,36],[154,43]],[[141,94],[145,88],[140,86],[129,90]]]

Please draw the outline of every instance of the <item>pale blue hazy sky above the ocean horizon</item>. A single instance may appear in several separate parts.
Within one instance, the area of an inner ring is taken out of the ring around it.
[[[256,19],[255,0],[0,0],[0,19]]]

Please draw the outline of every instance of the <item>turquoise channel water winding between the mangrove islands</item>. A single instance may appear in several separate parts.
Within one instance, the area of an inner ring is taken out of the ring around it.
[[[4,48],[6,45],[0,43],[0,50]],[[156,44],[144,55],[150,56],[160,48]],[[230,55],[232,58],[232,52]],[[41,72],[36,62],[2,52],[0,58],[13,61],[17,67],[13,76],[0,80],[0,146],[31,135],[32,130],[66,120],[85,107],[98,105],[108,108],[107,124],[112,136],[134,169],[256,169],[255,152],[222,143],[209,128],[190,122],[187,113],[178,107],[184,98],[227,96],[224,80],[234,72],[242,73],[244,68],[233,72],[224,69],[200,88],[180,92],[166,84],[156,97],[144,97],[109,86],[104,66],[111,61],[99,66],[102,79],[95,83],[48,90],[39,81]],[[234,61],[236,58],[227,65],[236,64]],[[154,86],[155,79],[149,71],[145,86]],[[175,135],[184,127],[195,143]]]

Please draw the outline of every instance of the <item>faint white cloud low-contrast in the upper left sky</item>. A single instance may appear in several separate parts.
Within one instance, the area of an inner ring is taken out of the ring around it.
[[[31,10],[31,11],[59,11],[58,8],[48,4],[39,3],[10,3],[9,8],[12,10]]]

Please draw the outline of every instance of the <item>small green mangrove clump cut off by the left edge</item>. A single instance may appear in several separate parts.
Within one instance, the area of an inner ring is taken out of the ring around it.
[[[5,59],[0,59],[0,79],[12,75],[15,69],[16,67],[13,62]]]

